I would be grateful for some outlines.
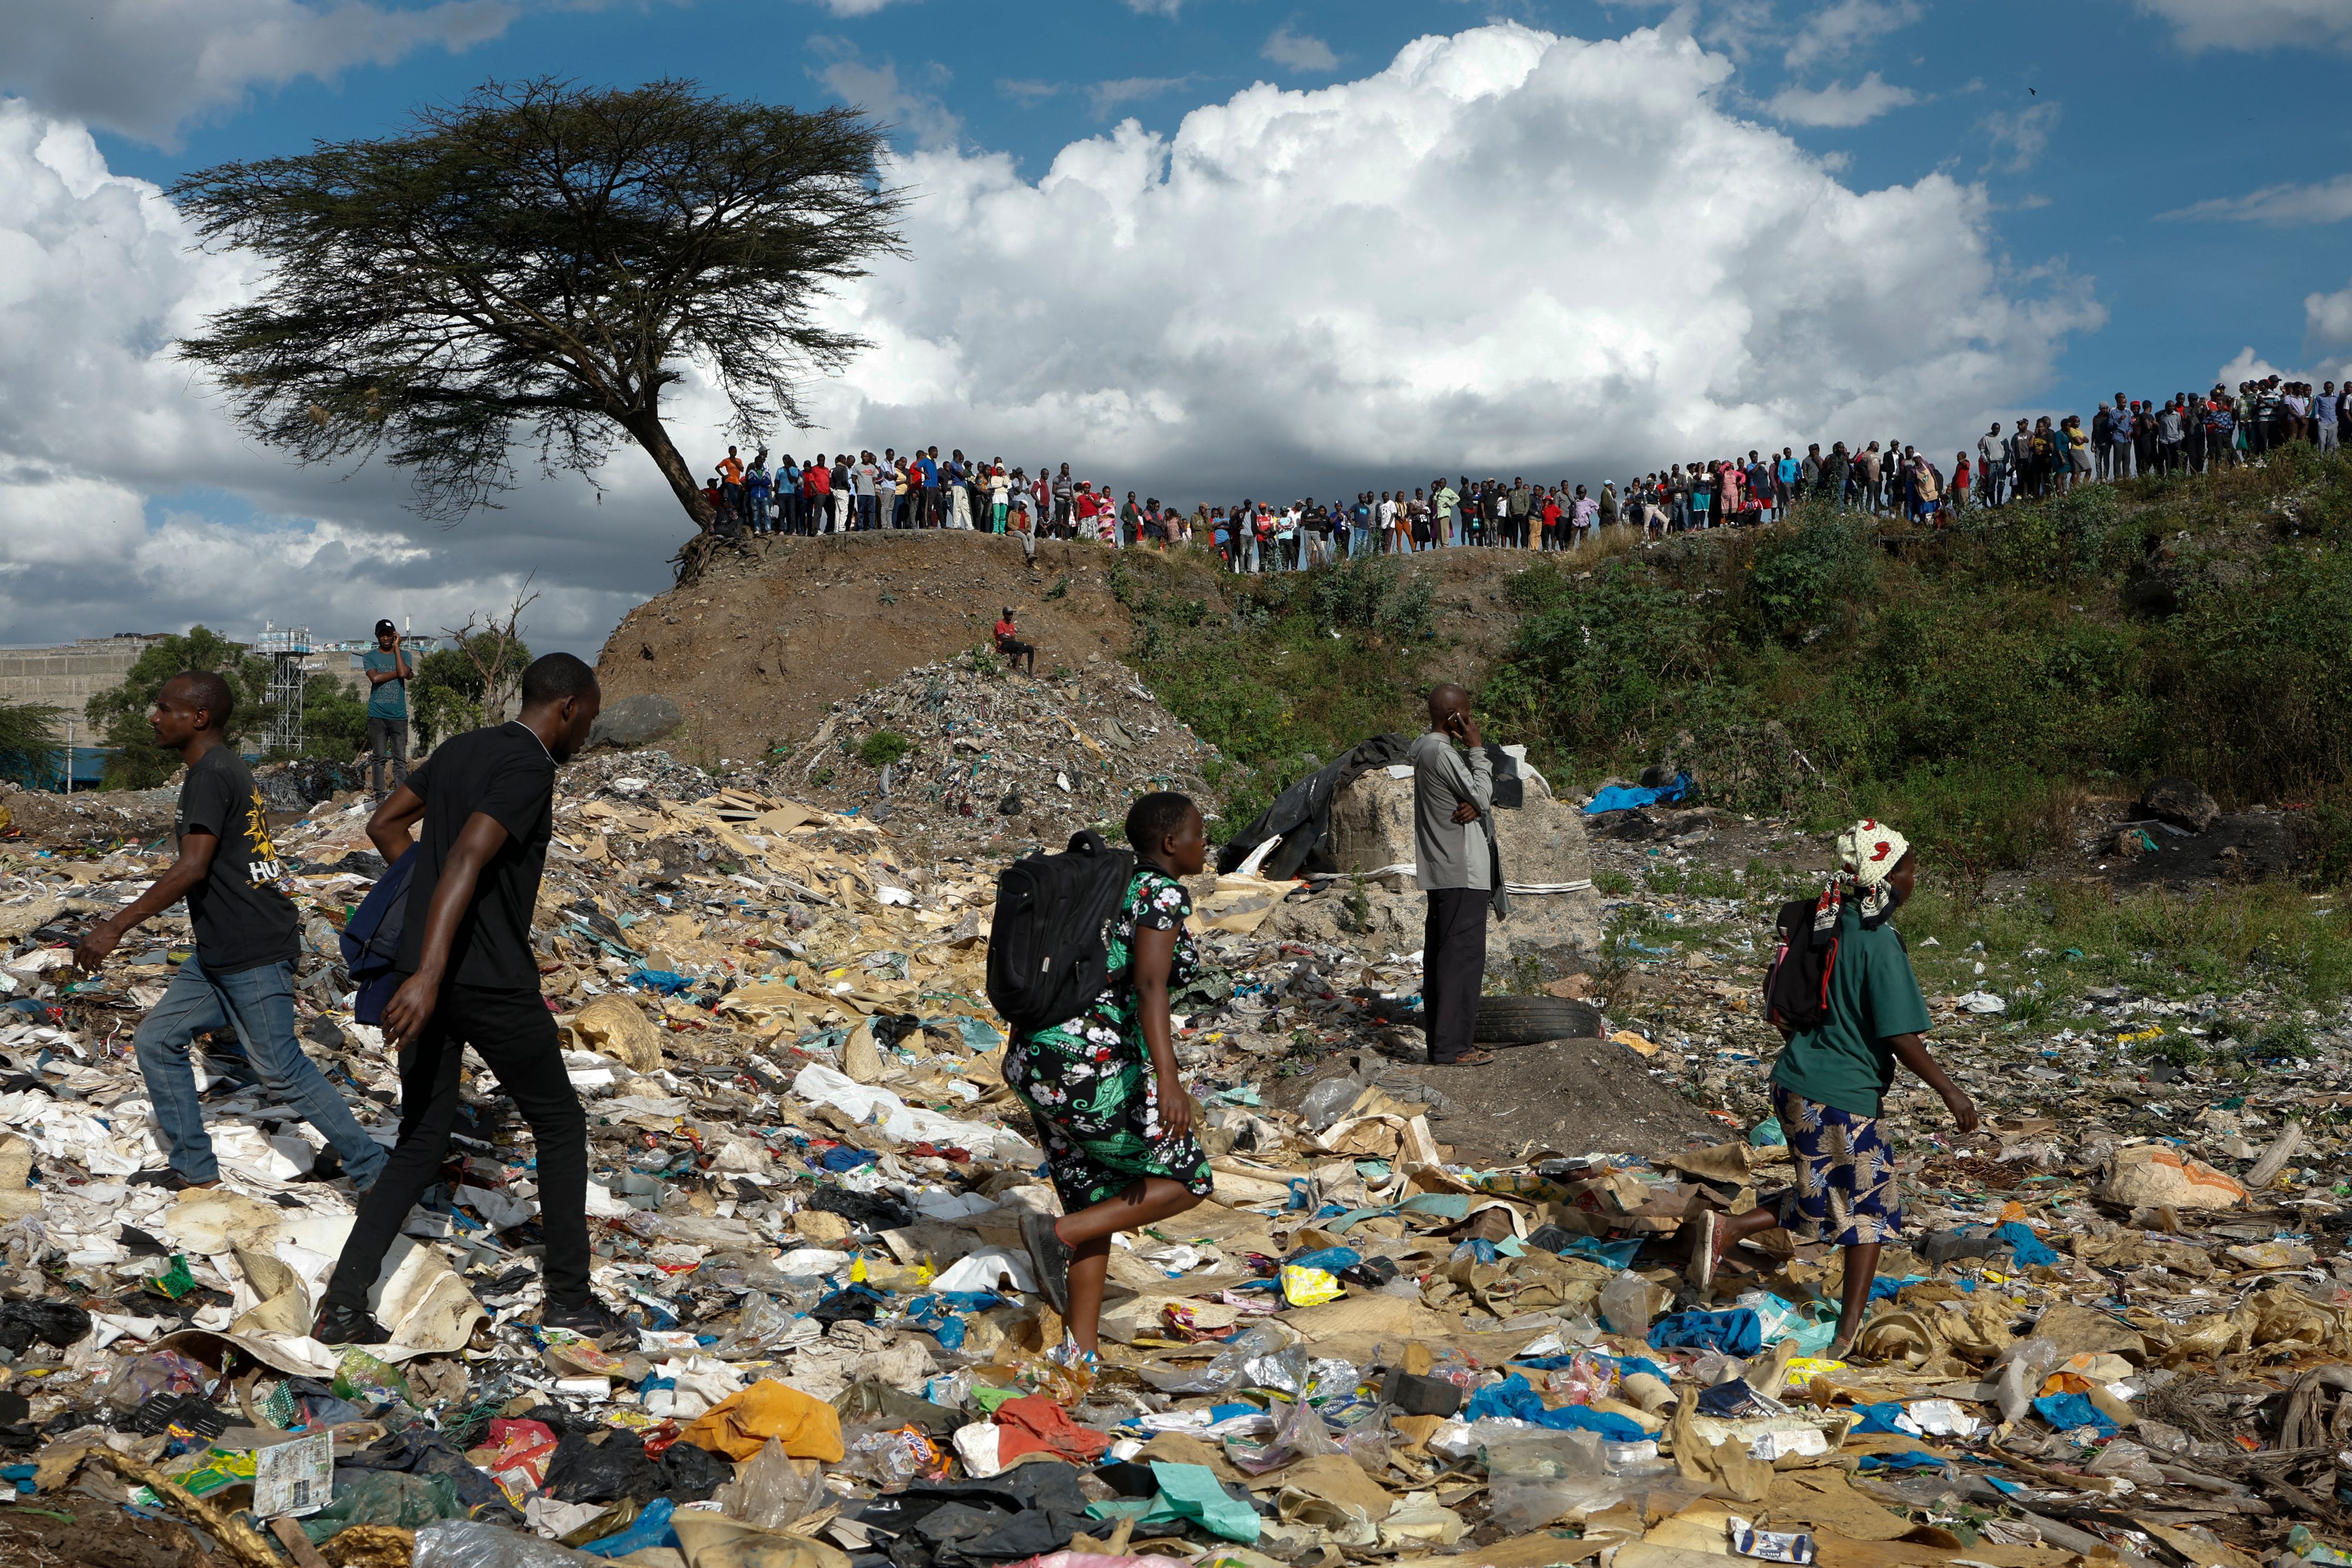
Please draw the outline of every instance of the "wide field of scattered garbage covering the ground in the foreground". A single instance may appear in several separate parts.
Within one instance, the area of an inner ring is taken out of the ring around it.
[[[1016,719],[946,675],[938,712],[1011,755]],[[856,722],[884,717],[915,733]],[[21,1561],[87,1559],[64,1533],[108,1521],[249,1568],[2352,1561],[2352,1269],[2312,1103],[2336,1067],[2201,1119],[2204,1157],[1985,1086],[1999,1150],[1907,1143],[1915,1232],[1832,1361],[1835,1248],[1766,1229],[1686,1284],[1696,1215],[1788,1180],[1738,1095],[1693,1147],[1463,1159],[1449,1095],[1534,1051],[1414,1067],[1418,954],[1284,938],[1308,893],[1204,879],[1174,1011],[1216,1194],[1120,1239],[1084,1371],[1021,1246],[1056,1199],[981,990],[993,867],[917,863],[795,769],[560,778],[534,940],[590,1110],[595,1291],[635,1326],[604,1345],[536,1328],[532,1145],[487,1079],[372,1298],[395,1345],[308,1340],[353,1197],[233,1041],[202,1058],[223,1185],[125,1180],[162,1164],[129,1039],[186,924],[99,976],[71,943],[165,851],[0,846]],[[365,820],[336,797],[278,846],[306,1044],[388,1143],[393,1063],[334,943],[381,870]],[[1724,1072],[1649,1030],[1592,1044]]]

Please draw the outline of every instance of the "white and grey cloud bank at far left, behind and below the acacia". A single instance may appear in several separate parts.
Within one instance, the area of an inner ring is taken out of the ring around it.
[[[252,275],[188,242],[155,186],[111,174],[87,129],[0,99],[7,642],[193,621],[362,635],[383,614],[437,630],[539,574],[548,646],[593,654],[656,585],[684,517],[633,451],[604,475],[604,505],[579,482],[532,484],[510,510],[445,531],[402,510],[407,480],[381,465],[303,470],[242,442],[172,341],[245,299]],[[689,451],[708,451],[694,433],[715,407],[689,395],[680,411]]]

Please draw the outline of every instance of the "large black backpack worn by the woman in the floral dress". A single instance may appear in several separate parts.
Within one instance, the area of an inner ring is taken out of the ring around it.
[[[1110,922],[1136,856],[1087,827],[1058,856],[1025,856],[997,877],[988,926],[988,1006],[1014,1034],[1068,1023],[1110,985]]]

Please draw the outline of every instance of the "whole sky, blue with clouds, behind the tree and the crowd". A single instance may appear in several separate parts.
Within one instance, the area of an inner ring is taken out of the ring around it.
[[[593,651],[680,517],[529,473],[442,531],[292,470],[169,339],[249,294],[151,186],[485,78],[851,101],[915,256],[781,447],[936,440],[1171,498],[1599,480],[2352,355],[2343,0],[0,0],[5,642],[419,623],[524,578]],[[1416,42],[1425,40],[1425,42]],[[1569,40],[1590,40],[1578,45]],[[146,181],[146,183],[141,183]],[[722,440],[673,407],[689,461]],[[1557,470],[1557,475],[1555,475]],[[125,564],[129,562],[129,564]],[[263,599],[268,604],[263,604]],[[275,607],[275,609],[270,609]]]

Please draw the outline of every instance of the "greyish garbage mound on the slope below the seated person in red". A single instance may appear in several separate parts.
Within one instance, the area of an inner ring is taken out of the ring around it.
[[[774,778],[901,837],[1061,849],[1080,827],[1122,820],[1148,790],[1178,790],[1214,813],[1202,773],[1216,757],[1101,654],[1040,677],[960,654],[835,703]]]

